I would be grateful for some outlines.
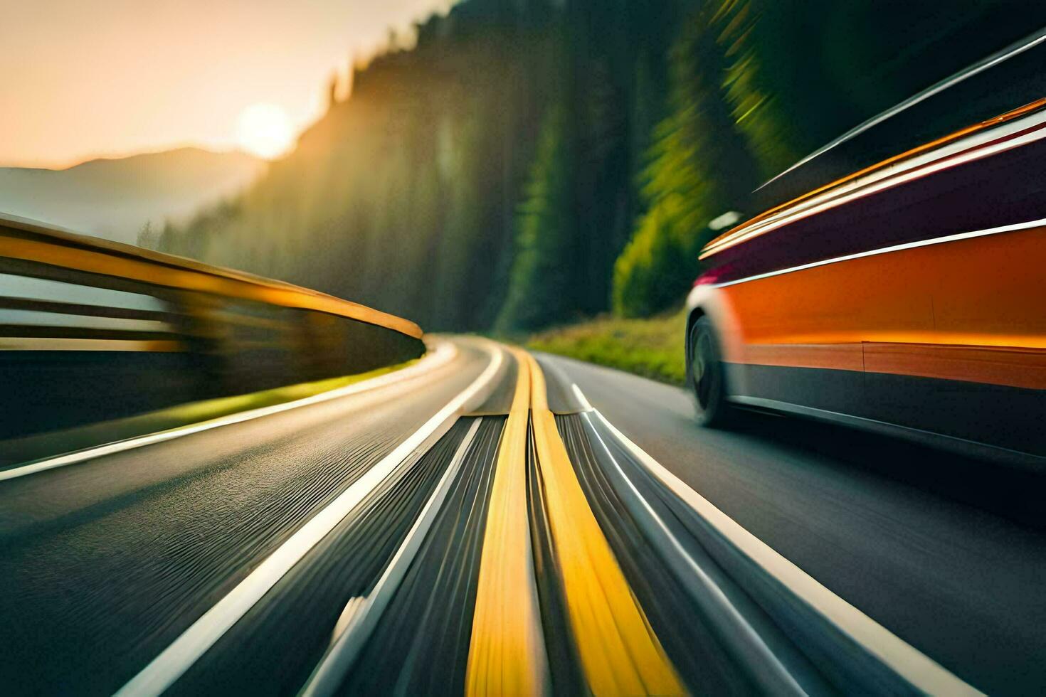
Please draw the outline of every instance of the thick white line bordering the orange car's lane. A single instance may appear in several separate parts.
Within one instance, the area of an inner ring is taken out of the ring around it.
[[[592,414],[636,458],[637,462],[642,464],[651,474],[689,506],[730,544],[781,583],[789,591],[824,618],[826,622],[915,689],[930,695],[983,694],[828,590],[812,576],[748,532],[631,441],[598,410],[593,410]]]

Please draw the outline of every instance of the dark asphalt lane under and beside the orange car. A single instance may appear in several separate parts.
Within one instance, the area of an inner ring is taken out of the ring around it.
[[[992,694],[1046,690],[1043,478],[794,418],[698,428],[680,389],[541,356],[756,537]]]

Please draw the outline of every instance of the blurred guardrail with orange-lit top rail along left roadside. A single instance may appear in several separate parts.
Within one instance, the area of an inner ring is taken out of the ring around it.
[[[402,363],[400,317],[0,214],[0,439]]]

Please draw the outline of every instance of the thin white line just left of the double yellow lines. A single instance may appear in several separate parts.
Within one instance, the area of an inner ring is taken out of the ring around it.
[[[374,630],[385,608],[392,601],[395,591],[407,575],[407,570],[417,555],[425,536],[432,528],[432,524],[444,505],[444,499],[447,498],[451,485],[461,469],[461,463],[472,446],[482,420],[482,418],[477,418],[473,421],[472,427],[469,428],[458,445],[458,449],[447,467],[447,471],[439,480],[435,491],[425,504],[425,508],[418,514],[410,532],[407,533],[403,544],[396,550],[385,573],[374,584],[373,590],[365,598],[356,597],[348,601],[338,621],[340,626],[335,627],[332,646],[301,691],[301,695],[304,697],[333,695],[338,691],[341,681],[348,674],[353,664],[356,663],[360,650]]]

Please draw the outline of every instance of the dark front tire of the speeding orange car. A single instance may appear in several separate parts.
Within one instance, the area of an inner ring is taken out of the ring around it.
[[[730,424],[736,410],[727,401],[723,353],[707,317],[699,317],[690,327],[686,353],[686,385],[698,423],[711,428]]]

